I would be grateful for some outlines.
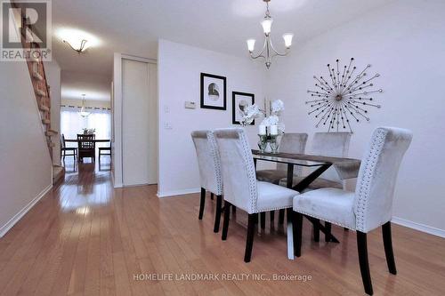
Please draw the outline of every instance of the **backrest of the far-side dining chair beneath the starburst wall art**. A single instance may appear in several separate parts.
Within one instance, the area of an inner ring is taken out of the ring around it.
[[[310,154],[315,156],[346,157],[348,156],[351,136],[351,132],[315,132]],[[333,167],[323,172],[320,178],[337,182],[342,181]]]

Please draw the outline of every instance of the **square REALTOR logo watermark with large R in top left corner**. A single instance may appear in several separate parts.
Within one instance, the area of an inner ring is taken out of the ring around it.
[[[3,0],[0,60],[51,60],[51,0]]]

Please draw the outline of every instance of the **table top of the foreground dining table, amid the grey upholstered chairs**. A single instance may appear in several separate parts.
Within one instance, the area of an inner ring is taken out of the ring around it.
[[[295,164],[302,166],[320,166],[332,164],[342,180],[357,178],[360,170],[360,159],[333,156],[312,156],[306,154],[283,153],[261,153],[252,150],[254,158],[283,164]]]

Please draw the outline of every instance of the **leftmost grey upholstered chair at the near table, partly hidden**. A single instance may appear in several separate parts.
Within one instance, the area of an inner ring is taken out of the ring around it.
[[[195,144],[196,154],[198,156],[201,183],[201,201],[199,204],[198,219],[202,220],[204,206],[206,204],[206,191],[209,191],[212,197],[216,195],[214,232],[218,232],[223,208],[223,178],[221,176],[221,164],[214,134],[212,131],[195,131],[191,132],[191,139]]]

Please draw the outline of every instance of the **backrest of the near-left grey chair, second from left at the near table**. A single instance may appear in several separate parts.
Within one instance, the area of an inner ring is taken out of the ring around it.
[[[223,172],[223,196],[229,203],[248,212],[257,212],[254,158],[243,129],[214,131]]]

